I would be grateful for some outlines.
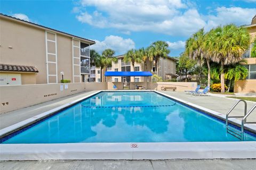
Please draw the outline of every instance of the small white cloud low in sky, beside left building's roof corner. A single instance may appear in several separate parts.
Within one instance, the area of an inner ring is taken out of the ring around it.
[[[115,50],[116,54],[124,54],[127,50],[135,48],[135,43],[132,39],[119,36],[107,36],[103,41],[95,40],[96,44],[91,46],[97,52],[102,53],[103,50],[110,48]]]

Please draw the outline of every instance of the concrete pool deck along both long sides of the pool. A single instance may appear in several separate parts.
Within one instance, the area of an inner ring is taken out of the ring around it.
[[[7,126],[13,125],[15,123],[26,120],[27,118],[39,115],[43,112],[50,111],[53,108],[65,105],[70,103],[70,101],[74,101],[83,96],[91,95],[97,90],[93,91],[85,91],[76,95],[71,95],[67,97],[62,97],[59,99],[47,101],[42,104],[37,104],[34,106],[29,106],[26,108],[18,109],[16,111],[7,112],[4,114],[0,114],[0,129],[6,128]],[[170,95],[181,100],[188,101],[189,103],[193,103],[198,106],[205,107],[207,109],[211,109],[212,111],[219,112],[221,114],[226,115],[229,109],[236,103],[237,99],[231,99],[226,97],[216,97],[216,96],[192,96],[187,95],[185,92],[180,91],[159,91],[166,95]],[[247,102],[247,111],[255,105],[255,102],[248,101]],[[243,115],[243,103],[237,105],[234,111],[231,113],[232,115]],[[256,122],[256,110],[247,118],[248,121]]]

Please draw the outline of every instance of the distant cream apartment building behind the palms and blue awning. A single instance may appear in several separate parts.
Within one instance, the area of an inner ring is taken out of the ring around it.
[[[134,63],[134,68],[131,63],[125,63],[124,55],[116,56],[118,59],[117,63],[112,63],[111,67],[107,68],[107,71],[150,71],[153,74],[157,74],[156,72],[156,64],[155,61],[147,62],[147,63]],[[163,80],[170,80],[173,77],[176,77],[176,59],[168,56],[167,58],[160,58],[158,63],[158,76],[162,77]],[[95,71],[94,71],[95,70]],[[106,81],[104,77],[106,69],[103,69],[102,80]],[[95,66],[91,67],[91,80],[94,82],[100,82],[100,68]],[[148,79],[148,81],[151,78]],[[146,77],[111,77],[108,78],[108,81],[112,82],[145,82],[147,81]]]

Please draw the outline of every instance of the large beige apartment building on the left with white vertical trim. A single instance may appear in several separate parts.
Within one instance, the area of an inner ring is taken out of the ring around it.
[[[0,14],[0,83],[86,82],[94,41]]]

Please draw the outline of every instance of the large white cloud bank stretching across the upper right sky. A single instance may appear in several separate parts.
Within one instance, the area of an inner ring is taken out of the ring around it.
[[[95,10],[86,11],[91,6]],[[82,0],[79,6],[81,11],[76,18],[94,27],[115,28],[127,34],[133,31],[151,31],[172,36],[190,36],[202,27],[210,30],[219,24],[249,24],[256,13],[256,8],[218,7],[204,15],[195,6],[189,1],[185,4],[181,0]]]

